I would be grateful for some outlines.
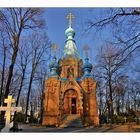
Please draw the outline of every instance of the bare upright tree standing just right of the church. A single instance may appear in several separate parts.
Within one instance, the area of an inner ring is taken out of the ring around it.
[[[111,123],[113,123],[113,115],[114,115],[114,107],[113,107],[113,93],[115,90],[114,79],[119,72],[119,70],[124,66],[124,62],[122,61],[123,56],[120,56],[120,49],[112,46],[111,44],[104,44],[99,49],[98,52],[98,64],[97,68],[100,71],[100,77],[104,84],[106,85],[106,93],[108,96],[106,97],[106,107],[109,111],[109,116],[111,119]]]

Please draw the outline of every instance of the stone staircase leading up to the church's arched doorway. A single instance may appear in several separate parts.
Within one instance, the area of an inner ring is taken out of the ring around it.
[[[83,127],[82,120],[79,114],[70,114],[66,115],[65,118],[62,120],[62,124],[59,126],[60,128],[65,127]]]

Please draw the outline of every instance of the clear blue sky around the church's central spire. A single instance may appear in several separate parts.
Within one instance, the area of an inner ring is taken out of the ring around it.
[[[44,17],[47,24],[47,32],[50,40],[57,44],[61,50],[61,54],[65,45],[65,30],[68,28],[68,20],[66,16],[69,12],[73,13],[75,19],[72,27],[75,29],[75,41],[78,52],[83,57],[83,46],[88,44],[90,50],[90,60],[95,63],[97,49],[103,44],[104,40],[111,36],[109,30],[103,30],[100,34],[91,31],[85,34],[84,29],[87,28],[89,19],[96,19],[100,16],[100,8],[46,8]],[[94,11],[94,12],[93,12]]]

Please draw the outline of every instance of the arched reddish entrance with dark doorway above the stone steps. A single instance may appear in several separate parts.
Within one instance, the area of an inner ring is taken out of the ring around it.
[[[64,114],[78,114],[78,93],[69,89],[64,93]]]

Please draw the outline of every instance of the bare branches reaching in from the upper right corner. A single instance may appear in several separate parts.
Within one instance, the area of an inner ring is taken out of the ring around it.
[[[99,18],[88,20],[86,30],[108,28],[113,37],[110,41],[123,47],[124,59],[140,48],[140,8],[103,9]]]

